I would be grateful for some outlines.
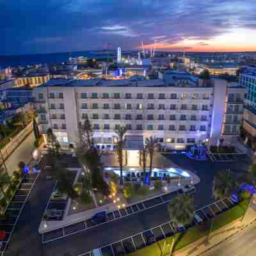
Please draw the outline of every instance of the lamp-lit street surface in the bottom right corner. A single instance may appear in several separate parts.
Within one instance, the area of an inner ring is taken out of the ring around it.
[[[256,224],[241,231],[219,246],[212,248],[205,256],[255,256],[256,255]]]

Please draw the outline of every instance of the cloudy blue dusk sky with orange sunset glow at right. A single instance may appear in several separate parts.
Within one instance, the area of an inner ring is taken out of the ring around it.
[[[0,0],[0,54],[256,51],[255,0]]]

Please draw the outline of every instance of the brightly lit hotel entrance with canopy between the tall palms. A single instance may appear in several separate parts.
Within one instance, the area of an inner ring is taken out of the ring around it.
[[[143,150],[143,136],[125,136],[125,165],[140,166],[140,151]]]

